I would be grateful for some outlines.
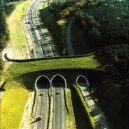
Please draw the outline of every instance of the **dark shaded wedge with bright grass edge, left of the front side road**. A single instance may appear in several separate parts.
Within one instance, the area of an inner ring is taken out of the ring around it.
[[[70,90],[77,129],[93,129],[95,123],[89,115],[89,109],[87,108],[81,93],[73,85],[70,87]]]

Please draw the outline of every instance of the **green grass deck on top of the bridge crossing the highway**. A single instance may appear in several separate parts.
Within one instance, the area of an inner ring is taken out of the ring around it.
[[[78,58],[62,58],[62,59],[49,59],[41,61],[13,63],[8,69],[8,72],[3,74],[3,78],[14,78],[22,74],[49,70],[49,69],[69,69],[69,68],[85,68],[97,69],[99,63],[95,59],[95,55],[88,55],[86,57]]]

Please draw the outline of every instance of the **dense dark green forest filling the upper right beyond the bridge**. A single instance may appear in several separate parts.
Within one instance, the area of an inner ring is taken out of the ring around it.
[[[90,44],[98,49],[104,48],[104,53],[113,60],[129,58],[128,0],[56,2],[50,6],[50,11],[56,14],[57,21],[74,16],[76,25],[80,25]]]

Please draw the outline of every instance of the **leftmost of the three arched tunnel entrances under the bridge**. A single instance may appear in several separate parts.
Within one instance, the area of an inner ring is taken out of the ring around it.
[[[35,82],[35,88],[37,89],[48,89],[50,88],[50,79],[45,76],[45,75],[42,75],[42,76],[39,76],[37,79],[36,79],[36,82]]]

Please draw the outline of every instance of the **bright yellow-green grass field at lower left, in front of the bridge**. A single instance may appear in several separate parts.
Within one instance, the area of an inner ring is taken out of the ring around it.
[[[10,81],[7,87],[1,102],[1,129],[18,129],[28,98],[28,91],[16,81]]]

